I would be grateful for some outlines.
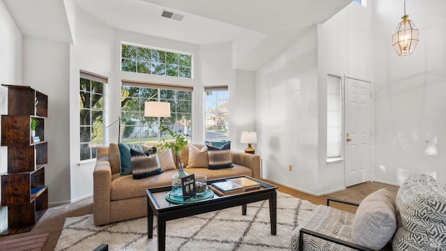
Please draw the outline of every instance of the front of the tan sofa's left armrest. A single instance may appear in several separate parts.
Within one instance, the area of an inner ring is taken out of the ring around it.
[[[105,225],[110,220],[110,191],[112,167],[108,154],[99,154],[93,171],[93,218],[95,225]]]

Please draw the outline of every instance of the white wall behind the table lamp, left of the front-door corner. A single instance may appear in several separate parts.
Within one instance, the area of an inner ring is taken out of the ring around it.
[[[314,193],[318,165],[317,27],[256,71],[256,130],[263,178]],[[293,165],[293,172],[289,172]]]

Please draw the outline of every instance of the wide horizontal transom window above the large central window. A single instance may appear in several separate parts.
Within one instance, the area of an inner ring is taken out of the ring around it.
[[[192,54],[121,45],[121,70],[192,78]]]

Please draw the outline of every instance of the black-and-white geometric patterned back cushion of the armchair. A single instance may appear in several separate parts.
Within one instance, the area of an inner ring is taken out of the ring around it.
[[[394,250],[446,250],[446,190],[426,174],[410,176],[397,193]]]

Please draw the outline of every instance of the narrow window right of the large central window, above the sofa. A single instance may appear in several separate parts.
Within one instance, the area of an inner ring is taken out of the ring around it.
[[[229,132],[228,87],[205,87],[204,93],[205,139],[208,141],[227,140]]]

